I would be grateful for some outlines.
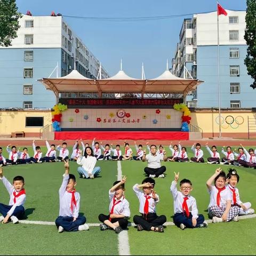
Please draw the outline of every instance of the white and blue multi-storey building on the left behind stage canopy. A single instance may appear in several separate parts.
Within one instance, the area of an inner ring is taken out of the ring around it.
[[[12,46],[0,47],[0,108],[51,109],[54,94],[37,79],[68,75],[75,62],[83,76],[97,78],[100,61],[62,16],[23,15],[19,23]],[[108,77],[102,66],[101,77]]]

